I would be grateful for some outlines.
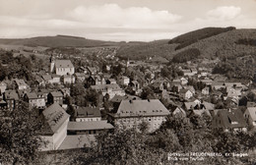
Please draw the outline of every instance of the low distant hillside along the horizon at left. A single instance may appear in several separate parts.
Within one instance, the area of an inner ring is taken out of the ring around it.
[[[25,45],[25,46],[44,46],[44,47],[96,47],[116,45],[117,42],[100,41],[87,39],[77,36],[56,35],[38,36],[23,39],[0,39],[0,44]]]

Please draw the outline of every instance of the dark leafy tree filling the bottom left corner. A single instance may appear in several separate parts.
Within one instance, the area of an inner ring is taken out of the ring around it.
[[[0,163],[29,164],[38,156],[42,140],[37,136],[40,122],[28,104],[20,102],[17,110],[3,110],[0,120]]]

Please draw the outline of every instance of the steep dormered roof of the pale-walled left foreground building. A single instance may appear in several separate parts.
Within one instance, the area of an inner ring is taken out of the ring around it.
[[[56,133],[63,123],[70,117],[69,114],[58,104],[54,103],[44,111],[42,111],[46,124],[48,124],[50,132]]]

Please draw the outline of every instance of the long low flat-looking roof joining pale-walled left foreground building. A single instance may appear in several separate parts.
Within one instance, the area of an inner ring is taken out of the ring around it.
[[[114,129],[114,127],[103,121],[91,121],[91,122],[69,122],[68,131],[86,131],[86,130],[108,130]]]

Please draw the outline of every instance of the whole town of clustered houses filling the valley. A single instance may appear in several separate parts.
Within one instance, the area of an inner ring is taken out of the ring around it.
[[[117,49],[78,54],[46,49],[39,52],[43,57],[38,50],[25,56],[2,49],[2,114],[26,105],[42,123],[36,135],[45,144],[39,151],[90,148],[96,136],[116,128],[158,133],[169,117],[192,123],[196,130],[255,131],[253,80],[216,74],[220,59],[183,64],[158,56],[132,60],[118,57]]]

